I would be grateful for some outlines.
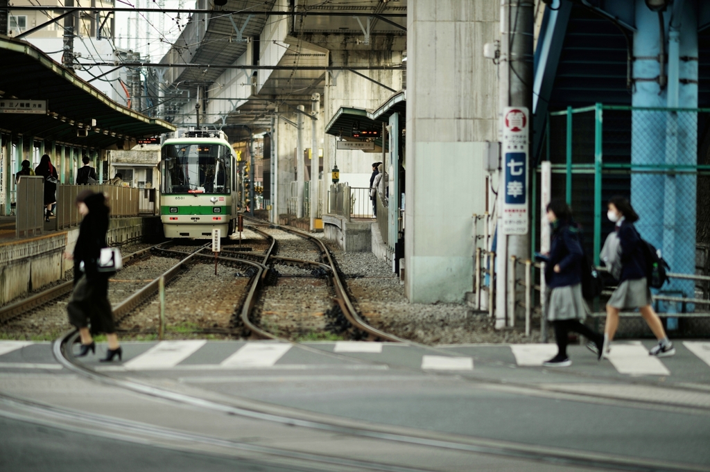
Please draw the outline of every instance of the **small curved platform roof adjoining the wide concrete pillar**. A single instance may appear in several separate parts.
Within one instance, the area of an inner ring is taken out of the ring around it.
[[[395,93],[374,111],[352,106],[341,106],[335,112],[330,122],[325,126],[325,132],[339,136],[346,141],[359,141],[353,138],[353,125],[359,122],[361,128],[381,129],[383,123],[388,123],[393,113],[407,111],[407,93],[405,90]],[[382,139],[375,139],[375,146],[382,146]]]

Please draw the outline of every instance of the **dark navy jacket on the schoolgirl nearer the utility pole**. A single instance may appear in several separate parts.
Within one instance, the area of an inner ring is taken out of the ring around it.
[[[545,265],[545,282],[550,288],[567,287],[581,283],[581,231],[577,226],[563,224],[552,232],[550,258]],[[555,265],[559,264],[559,273]]]

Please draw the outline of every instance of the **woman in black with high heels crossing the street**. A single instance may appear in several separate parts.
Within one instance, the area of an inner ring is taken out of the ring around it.
[[[96,353],[92,334],[106,333],[109,351],[101,361],[113,361],[116,356],[120,360],[123,349],[119,346],[114,314],[109,303],[109,276],[97,270],[101,249],[107,247],[109,207],[104,194],[91,190],[84,190],[77,195],[77,207],[84,219],[79,227],[74,253],[65,253],[65,258],[74,260],[74,291],[67,304],[67,312],[69,322],[79,329],[81,335],[82,346],[77,357],[86,356],[89,351]]]

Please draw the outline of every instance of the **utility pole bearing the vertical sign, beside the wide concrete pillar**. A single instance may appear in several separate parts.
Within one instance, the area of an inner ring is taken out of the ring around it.
[[[503,112],[508,106],[526,107],[528,122],[532,111],[532,69],[533,69],[533,33],[535,6],[532,0],[501,0],[501,59],[500,59],[500,113],[499,130],[503,136]],[[530,127],[530,126],[528,126]],[[528,143],[532,140],[528,138]],[[505,150],[503,150],[505,151]],[[528,145],[528,155],[530,153]],[[520,260],[530,258],[530,231],[523,235],[503,234],[503,200],[505,199],[506,168],[501,166],[501,193],[497,207],[497,246],[496,260],[496,328],[513,326],[515,323],[515,305],[508,307],[508,265],[510,256]],[[532,172],[528,172],[530,175]],[[534,175],[534,174],[533,174]],[[530,207],[530,182],[525,182],[528,192],[528,212]],[[515,267],[513,267],[515,271]],[[514,276],[514,275],[513,275]],[[513,285],[513,290],[518,290]],[[522,293],[522,291],[521,291]],[[518,300],[520,297],[516,297]],[[507,322],[507,323],[506,323]]]

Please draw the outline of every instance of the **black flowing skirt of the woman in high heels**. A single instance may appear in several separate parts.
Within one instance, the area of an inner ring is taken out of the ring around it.
[[[92,334],[115,333],[114,312],[109,303],[109,278],[81,276],[67,304],[69,322],[78,328],[91,327]]]

